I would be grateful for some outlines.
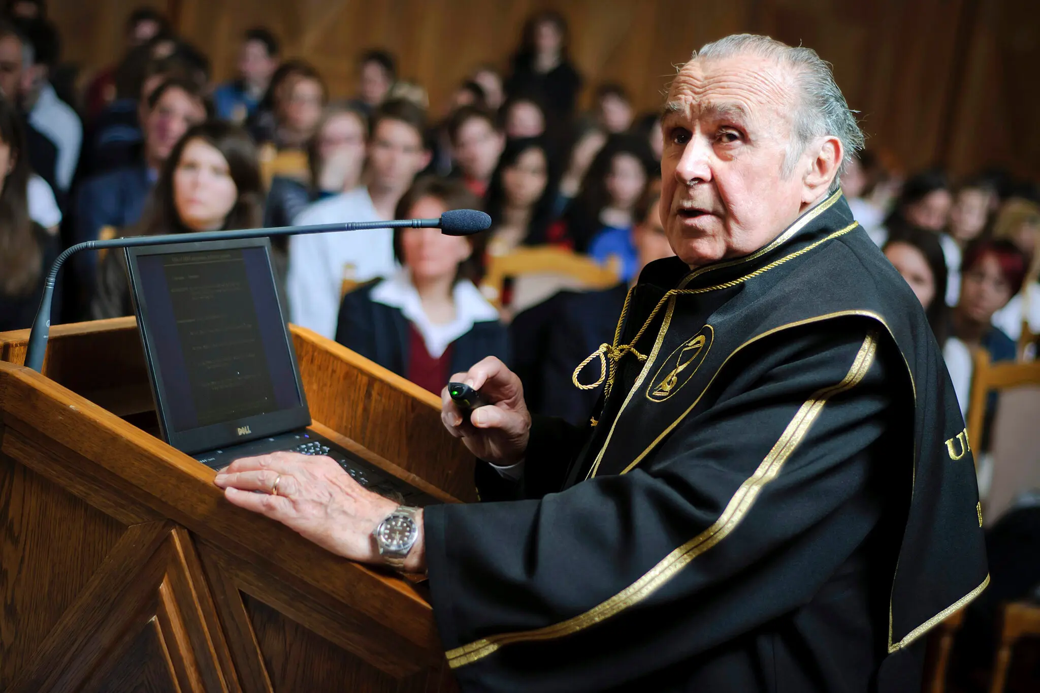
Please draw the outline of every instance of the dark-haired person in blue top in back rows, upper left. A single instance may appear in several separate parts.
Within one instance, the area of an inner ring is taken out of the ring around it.
[[[213,89],[218,118],[242,124],[256,110],[278,69],[278,38],[262,27],[250,29],[238,50],[238,77]]]

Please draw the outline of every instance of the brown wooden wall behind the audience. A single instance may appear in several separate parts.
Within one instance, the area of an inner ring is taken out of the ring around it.
[[[138,0],[52,0],[66,57],[87,70],[120,52],[122,22]],[[1040,3],[1036,0],[152,0],[211,56],[218,79],[234,71],[238,36],[263,24],[286,55],[313,61],[334,96],[355,91],[357,54],[382,46],[404,78],[443,113],[476,65],[505,68],[524,18],[554,7],[569,20],[571,52],[589,92],[627,86],[641,109],[703,43],[738,31],[816,49],[834,63],[872,147],[907,169],[947,162],[956,172],[1003,163],[1040,175]]]

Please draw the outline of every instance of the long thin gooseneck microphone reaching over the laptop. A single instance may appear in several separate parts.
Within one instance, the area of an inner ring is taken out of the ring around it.
[[[270,229],[240,229],[237,231],[199,231],[196,233],[171,233],[162,236],[127,236],[110,240],[87,240],[66,249],[54,260],[44,282],[44,296],[32,320],[29,344],[25,354],[25,365],[43,373],[44,355],[47,353],[47,338],[51,331],[51,300],[58,271],[64,261],[83,250],[103,248],[131,248],[136,246],[168,246],[202,240],[228,240],[237,238],[262,238],[264,236],[295,236],[306,233],[329,233],[334,231],[366,231],[371,229],[440,229],[449,236],[468,236],[486,231],[491,227],[491,217],[476,209],[451,209],[440,219],[400,219],[388,222],[340,222],[337,224],[316,224],[314,226],[278,226]]]

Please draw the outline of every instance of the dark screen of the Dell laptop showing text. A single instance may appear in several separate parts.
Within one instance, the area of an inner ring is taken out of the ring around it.
[[[136,261],[172,432],[301,406],[263,248]]]

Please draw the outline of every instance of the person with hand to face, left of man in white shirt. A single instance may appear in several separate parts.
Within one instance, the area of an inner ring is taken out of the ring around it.
[[[365,163],[368,119],[352,106],[330,106],[307,146],[309,181],[275,176],[267,191],[264,226],[289,226],[310,203],[352,190]]]

